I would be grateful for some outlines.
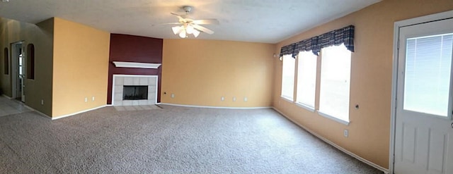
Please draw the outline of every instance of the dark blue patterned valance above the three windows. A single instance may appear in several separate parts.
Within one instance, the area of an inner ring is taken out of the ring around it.
[[[321,49],[333,45],[338,46],[340,44],[345,44],[349,51],[354,52],[354,25],[349,25],[348,27],[326,32],[323,35],[282,46],[280,49],[280,57],[291,55],[293,58],[296,58],[299,51],[312,51],[313,54],[319,56]]]

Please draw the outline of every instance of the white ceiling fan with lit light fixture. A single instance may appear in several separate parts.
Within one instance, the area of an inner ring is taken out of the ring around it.
[[[176,13],[171,13],[172,15],[176,15],[178,17],[178,23],[166,23],[166,24],[180,24],[180,26],[171,27],[173,33],[175,35],[179,35],[181,38],[186,38],[188,35],[193,35],[194,37],[198,37],[200,32],[205,32],[207,34],[214,34],[214,31],[207,29],[207,27],[203,27],[201,25],[218,25],[219,20],[217,19],[201,19],[201,20],[194,20],[188,18],[190,11],[192,11],[192,6],[183,6],[183,10],[185,11],[185,15],[178,15]],[[165,24],[164,24],[165,25]]]

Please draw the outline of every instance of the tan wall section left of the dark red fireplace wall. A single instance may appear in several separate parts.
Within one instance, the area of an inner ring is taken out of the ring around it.
[[[110,33],[55,18],[54,38],[52,118],[105,106]]]

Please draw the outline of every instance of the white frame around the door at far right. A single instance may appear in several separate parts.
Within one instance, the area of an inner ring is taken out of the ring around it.
[[[395,163],[395,132],[396,132],[396,93],[398,88],[398,51],[399,51],[399,30],[401,27],[429,23],[436,20],[453,18],[453,11],[445,11],[432,15],[425,15],[418,18],[400,20],[394,23],[394,54],[393,72],[391,79],[391,120],[390,120],[390,148],[389,148],[389,173],[394,173]]]

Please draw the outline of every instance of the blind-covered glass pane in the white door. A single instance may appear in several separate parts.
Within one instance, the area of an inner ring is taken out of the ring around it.
[[[453,34],[406,40],[403,108],[448,116]]]

